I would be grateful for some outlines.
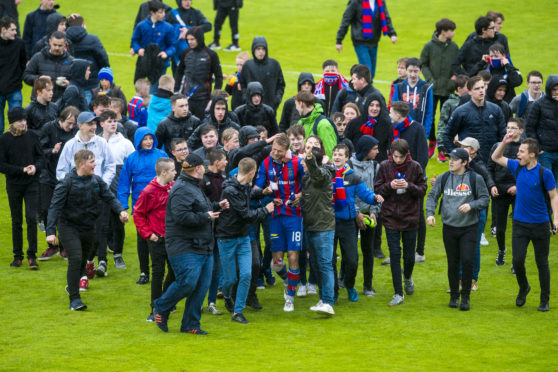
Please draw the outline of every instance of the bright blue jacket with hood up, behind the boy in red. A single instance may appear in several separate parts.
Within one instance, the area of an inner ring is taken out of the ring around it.
[[[148,134],[153,136],[153,147],[149,150],[141,148],[141,141]],[[168,158],[167,154],[157,148],[157,137],[147,127],[138,128],[134,138],[136,151],[124,162],[118,179],[117,197],[124,209],[128,209],[130,188],[132,189],[132,211],[141,191],[157,176],[155,163],[159,158]]]

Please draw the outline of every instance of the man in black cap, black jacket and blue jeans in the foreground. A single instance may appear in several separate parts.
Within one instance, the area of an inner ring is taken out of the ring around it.
[[[200,319],[213,270],[213,222],[221,213],[214,210],[226,209],[229,203],[222,200],[212,205],[199,186],[204,172],[203,159],[189,154],[169,194],[165,246],[175,281],[154,301],[153,308],[155,323],[164,332],[168,332],[170,310],[188,297],[180,331],[207,334],[200,328]]]

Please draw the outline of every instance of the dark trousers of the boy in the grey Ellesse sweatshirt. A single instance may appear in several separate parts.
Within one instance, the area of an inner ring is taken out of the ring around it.
[[[442,236],[446,248],[448,260],[448,280],[450,284],[451,297],[459,297],[459,262],[462,266],[462,289],[461,295],[471,293],[471,282],[473,280],[473,257],[479,235],[479,225],[475,223],[465,227],[454,227],[444,225]]]

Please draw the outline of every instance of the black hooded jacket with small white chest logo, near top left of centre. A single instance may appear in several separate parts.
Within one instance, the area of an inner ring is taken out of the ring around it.
[[[194,36],[198,45],[186,49],[180,57],[180,63],[176,68],[175,91],[184,93],[191,100],[207,102],[213,78],[215,78],[215,89],[223,87],[223,72],[219,56],[205,46],[201,26],[189,29],[187,35]]]

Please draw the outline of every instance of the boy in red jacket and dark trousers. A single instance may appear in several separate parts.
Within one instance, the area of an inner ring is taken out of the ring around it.
[[[134,223],[141,237],[147,240],[153,271],[151,313],[147,317],[148,322],[155,321],[153,301],[161,297],[161,294],[174,281],[174,273],[165,249],[165,212],[169,192],[174,185],[174,176],[176,175],[174,160],[159,158],[155,164],[155,171],[157,177],[152,179],[143,189],[134,207]],[[163,284],[165,263],[168,267],[168,273]]]

